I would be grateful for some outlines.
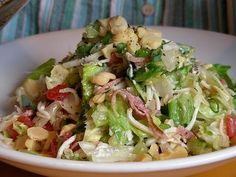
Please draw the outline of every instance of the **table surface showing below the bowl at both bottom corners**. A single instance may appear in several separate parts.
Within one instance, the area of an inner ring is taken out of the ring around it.
[[[236,176],[235,167],[236,167],[236,158],[232,159],[227,164],[224,164],[210,171],[200,173],[198,175],[193,175],[190,177],[222,177],[222,174],[224,174],[224,177],[235,177]],[[33,174],[30,172],[21,170],[19,168],[10,166],[3,162],[0,162],[0,174],[1,176],[4,176],[4,177],[15,177],[15,176],[17,177],[25,177],[25,176],[42,177],[41,175],[37,175],[37,174]]]

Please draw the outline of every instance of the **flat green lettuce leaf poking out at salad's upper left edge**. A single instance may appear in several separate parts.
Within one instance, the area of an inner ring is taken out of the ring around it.
[[[51,70],[54,67],[55,63],[56,60],[50,58],[47,62],[39,65],[36,69],[34,69],[27,78],[38,80],[41,76],[50,76]]]

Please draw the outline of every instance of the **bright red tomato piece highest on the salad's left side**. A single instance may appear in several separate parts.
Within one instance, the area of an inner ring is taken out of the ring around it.
[[[47,99],[49,99],[51,101],[64,100],[64,98],[67,97],[69,95],[69,93],[60,93],[60,90],[66,88],[66,87],[67,87],[66,84],[57,85],[56,87],[47,90],[47,92],[46,92]]]

